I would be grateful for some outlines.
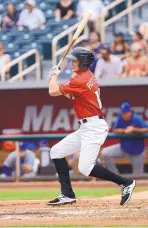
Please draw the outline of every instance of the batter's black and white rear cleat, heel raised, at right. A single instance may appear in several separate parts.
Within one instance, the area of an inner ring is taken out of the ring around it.
[[[121,188],[121,202],[120,205],[125,205],[131,198],[134,188],[136,186],[136,181],[133,180],[131,184],[127,186],[122,186]]]

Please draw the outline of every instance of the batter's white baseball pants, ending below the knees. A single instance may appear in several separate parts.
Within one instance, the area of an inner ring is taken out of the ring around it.
[[[80,151],[78,169],[85,176],[91,173],[108,134],[108,125],[104,119],[94,116],[87,118],[87,121],[81,121],[77,131],[61,140],[50,151],[51,159],[64,158]]]

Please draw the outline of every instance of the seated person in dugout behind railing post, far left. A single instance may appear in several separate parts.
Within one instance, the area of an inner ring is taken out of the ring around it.
[[[27,143],[20,142],[19,149],[20,175],[23,177],[34,177],[37,174],[40,161],[31,150],[27,149]],[[13,151],[8,155],[3,164],[1,178],[16,175],[16,159],[17,151]]]

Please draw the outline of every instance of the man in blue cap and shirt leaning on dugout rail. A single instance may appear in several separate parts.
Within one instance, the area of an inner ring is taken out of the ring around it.
[[[116,134],[135,134],[148,132],[148,124],[132,109],[129,102],[123,102],[119,116],[113,127]],[[106,147],[102,150],[105,166],[112,172],[119,173],[114,158],[126,157],[132,164],[133,174],[141,174],[144,171],[144,138],[120,139],[119,144]]]

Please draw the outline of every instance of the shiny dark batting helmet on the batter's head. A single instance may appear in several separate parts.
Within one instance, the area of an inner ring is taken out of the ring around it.
[[[67,58],[71,60],[79,60],[79,68],[88,69],[94,61],[94,54],[87,48],[76,47],[69,55],[67,55]]]

